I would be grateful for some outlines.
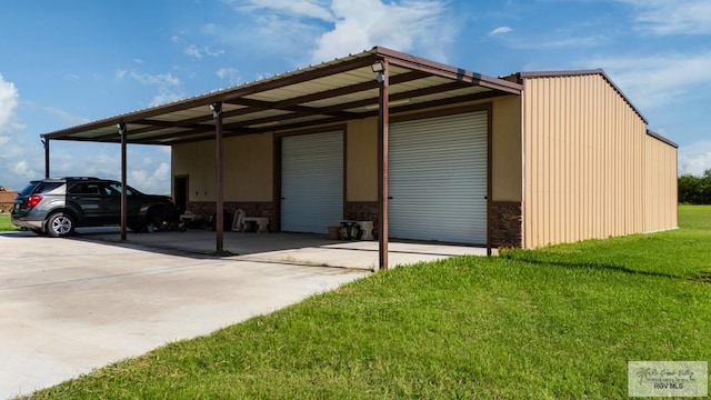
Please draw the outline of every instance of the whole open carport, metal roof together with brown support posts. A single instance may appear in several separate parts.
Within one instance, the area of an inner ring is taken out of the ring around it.
[[[521,89],[515,82],[375,47],[260,81],[42,134],[46,176],[50,174],[52,140],[120,143],[122,184],[129,143],[176,146],[214,140],[216,210],[222,210],[224,138],[378,117],[377,230],[379,268],[387,269],[390,117],[520,94]],[[490,148],[487,153],[490,162]],[[490,168],[487,173],[491,181]],[[491,201],[490,184],[487,199]],[[122,203],[126,204],[126,198]],[[222,219],[222,212],[217,212],[217,251],[223,250]],[[122,206],[121,240],[127,240],[126,232]],[[487,249],[490,253],[489,239]]]

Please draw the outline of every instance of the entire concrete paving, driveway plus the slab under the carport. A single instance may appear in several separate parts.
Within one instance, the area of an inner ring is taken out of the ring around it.
[[[0,400],[179,339],[208,334],[369,276],[378,243],[210,231],[0,233]],[[485,249],[393,242],[390,263]],[[328,266],[328,267],[324,267]]]

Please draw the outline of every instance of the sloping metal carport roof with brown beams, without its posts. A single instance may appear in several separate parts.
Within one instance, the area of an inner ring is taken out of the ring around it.
[[[390,113],[520,94],[522,86],[382,47],[260,81],[42,134],[51,140],[178,144],[214,138],[209,106],[222,102],[224,137],[283,131],[378,116],[371,66],[388,61]]]

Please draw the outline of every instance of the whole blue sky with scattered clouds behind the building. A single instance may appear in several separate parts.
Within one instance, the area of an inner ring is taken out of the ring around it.
[[[602,68],[711,168],[708,0],[13,1],[0,14],[0,184],[43,177],[40,134],[384,46],[489,76]],[[52,176],[118,178],[119,147],[53,141]],[[170,150],[129,146],[170,190]]]

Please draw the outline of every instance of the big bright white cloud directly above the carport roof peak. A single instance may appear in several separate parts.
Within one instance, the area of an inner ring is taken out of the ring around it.
[[[329,61],[383,46],[447,62],[455,30],[444,20],[448,0],[223,0],[249,13],[259,41],[286,57],[309,49],[309,62]],[[284,40],[288,38],[288,40]],[[229,38],[228,38],[229,40]],[[303,60],[294,63],[301,64]]]

